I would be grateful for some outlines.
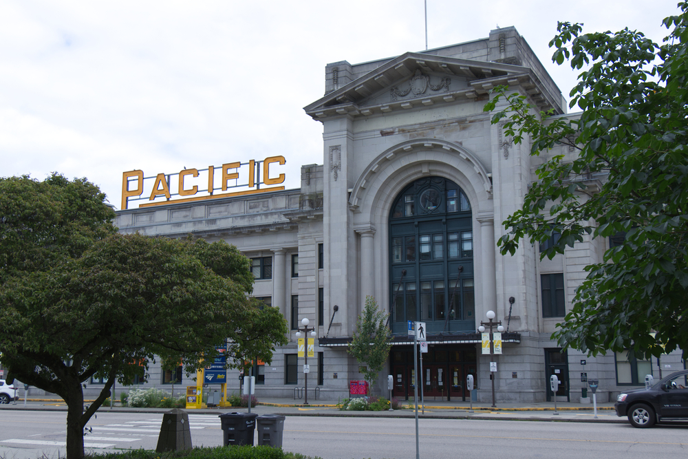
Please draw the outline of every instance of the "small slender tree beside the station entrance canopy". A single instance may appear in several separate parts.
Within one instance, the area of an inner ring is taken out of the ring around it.
[[[365,297],[365,308],[356,321],[356,332],[349,344],[349,354],[359,363],[367,364],[363,377],[371,389],[389,357],[391,337],[385,325],[388,315],[378,309],[373,297]]]

